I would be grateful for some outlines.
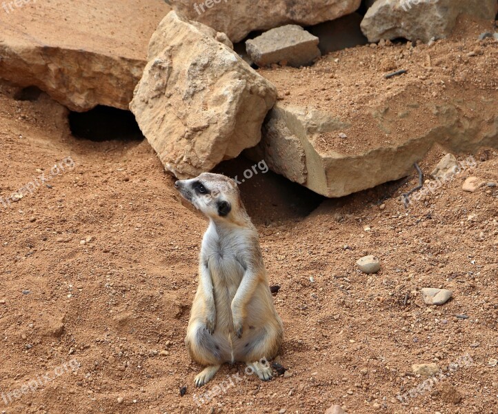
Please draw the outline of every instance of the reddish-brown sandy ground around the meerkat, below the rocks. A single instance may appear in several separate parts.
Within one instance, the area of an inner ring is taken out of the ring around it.
[[[46,95],[14,97],[0,83],[1,413],[498,413],[498,187],[461,189],[498,182],[497,152],[408,208],[415,174],[325,201],[270,172],[248,180],[288,371],[260,382],[223,366],[195,389],[183,337],[206,219],[146,141],[77,139]],[[357,270],[364,255],[379,273]],[[426,306],[424,287],[453,297]],[[441,373],[421,391],[412,364],[431,362]]]

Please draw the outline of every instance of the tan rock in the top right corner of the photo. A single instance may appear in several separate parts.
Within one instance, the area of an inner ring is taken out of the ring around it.
[[[496,0],[377,0],[361,22],[369,41],[443,39],[455,27],[459,14],[495,19]]]

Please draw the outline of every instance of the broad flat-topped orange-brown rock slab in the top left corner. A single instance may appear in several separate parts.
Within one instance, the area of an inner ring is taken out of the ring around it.
[[[99,104],[128,109],[150,35],[170,10],[157,0],[25,0],[5,6],[0,77],[37,86],[77,111]]]

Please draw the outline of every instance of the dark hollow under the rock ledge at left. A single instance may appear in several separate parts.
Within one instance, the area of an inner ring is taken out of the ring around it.
[[[70,112],[72,135],[90,141],[141,141],[142,132],[129,110],[96,106],[88,112]]]

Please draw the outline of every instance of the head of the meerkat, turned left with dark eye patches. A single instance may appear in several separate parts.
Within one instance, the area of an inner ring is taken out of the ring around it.
[[[230,220],[243,210],[237,184],[225,175],[203,172],[199,177],[177,181],[175,187],[210,219]]]

